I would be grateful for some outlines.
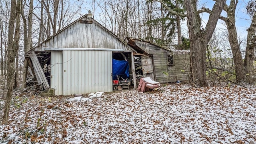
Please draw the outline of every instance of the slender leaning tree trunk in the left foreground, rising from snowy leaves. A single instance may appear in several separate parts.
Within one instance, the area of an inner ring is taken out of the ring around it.
[[[15,54],[18,50],[18,38],[20,34],[20,9],[21,9],[21,0],[11,1],[11,14],[10,21],[8,26],[8,48],[7,48],[7,95],[4,104],[4,114],[2,118],[2,124],[7,124],[9,120],[9,111],[10,111],[10,102],[12,100],[12,90],[13,90],[13,82],[14,82],[14,60]],[[16,28],[15,28],[15,36],[13,38],[14,33],[14,22],[16,19]]]

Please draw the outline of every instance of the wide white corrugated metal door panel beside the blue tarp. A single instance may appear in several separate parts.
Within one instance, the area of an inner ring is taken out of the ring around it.
[[[63,50],[63,95],[112,92],[112,51]]]

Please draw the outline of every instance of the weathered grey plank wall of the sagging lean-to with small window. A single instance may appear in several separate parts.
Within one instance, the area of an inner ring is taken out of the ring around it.
[[[154,44],[136,40],[136,45],[153,57],[154,74],[157,82],[167,83],[177,80],[189,80],[190,54],[173,54],[171,50],[166,50]],[[174,65],[168,66],[167,55],[173,55]],[[163,73],[168,73],[168,76]]]

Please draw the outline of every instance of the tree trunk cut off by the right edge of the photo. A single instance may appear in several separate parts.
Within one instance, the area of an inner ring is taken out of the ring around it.
[[[256,12],[254,12],[252,23],[247,29],[247,44],[244,58],[244,66],[246,70],[246,80],[248,83],[253,84],[254,68],[253,62],[255,58],[255,46],[256,46]]]

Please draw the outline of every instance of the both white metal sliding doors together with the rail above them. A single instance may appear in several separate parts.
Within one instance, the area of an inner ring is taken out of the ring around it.
[[[112,92],[112,51],[65,48],[51,52],[51,84],[56,95]]]

